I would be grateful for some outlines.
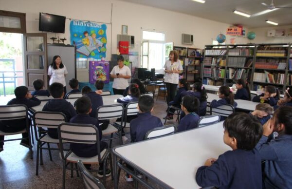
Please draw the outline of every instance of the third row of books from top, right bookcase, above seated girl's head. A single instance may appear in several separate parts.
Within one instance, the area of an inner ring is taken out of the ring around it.
[[[258,82],[267,82],[267,83],[277,83],[277,84],[284,84],[284,77],[285,74],[271,74],[267,71],[264,73],[254,73],[254,81]]]

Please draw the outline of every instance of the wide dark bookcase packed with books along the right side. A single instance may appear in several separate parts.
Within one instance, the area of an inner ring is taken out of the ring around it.
[[[292,87],[292,44],[205,46],[203,84],[231,86],[239,78],[254,91],[267,85],[280,90]]]

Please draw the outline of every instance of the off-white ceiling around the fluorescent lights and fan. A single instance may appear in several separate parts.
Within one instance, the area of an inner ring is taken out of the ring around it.
[[[240,24],[248,28],[273,26],[265,22],[267,19],[279,23],[278,26],[292,24],[292,8],[280,8],[263,14],[264,11],[269,9],[261,3],[270,5],[272,0],[205,0],[206,2],[203,4],[193,0],[122,1],[153,6],[228,24]],[[274,5],[292,7],[292,0],[274,0]],[[246,18],[236,15],[233,13],[235,9],[252,16]]]

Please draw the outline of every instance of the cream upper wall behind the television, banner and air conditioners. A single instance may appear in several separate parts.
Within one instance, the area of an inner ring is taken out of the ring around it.
[[[176,46],[204,48],[204,45],[212,44],[212,39],[215,40],[218,34],[225,34],[227,27],[230,26],[226,23],[119,0],[0,0],[0,9],[26,13],[27,33],[38,33],[39,12],[110,23],[111,3],[112,35],[108,25],[107,60],[110,60],[111,54],[117,53],[117,35],[121,34],[122,25],[128,25],[128,35],[135,36],[135,48],[130,51],[138,51],[139,55],[141,28],[165,32],[166,42],[174,42]],[[67,38],[65,43],[70,43],[69,24],[70,20],[66,19],[65,34],[48,33],[48,42],[52,43],[51,37],[65,37]],[[194,35],[193,46],[182,45],[183,33]],[[230,43],[230,38],[234,37],[227,36],[226,43]],[[248,42],[246,38],[235,38],[237,44]]]

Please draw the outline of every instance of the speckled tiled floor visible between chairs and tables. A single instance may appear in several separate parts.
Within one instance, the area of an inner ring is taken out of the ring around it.
[[[163,97],[156,101],[153,115],[162,119],[166,115],[166,103]],[[174,118],[175,120],[175,118]],[[162,119],[163,123],[164,120]],[[177,124],[175,121],[167,121],[166,124]],[[129,136],[128,136],[129,137]],[[117,142],[114,143],[117,145]],[[62,188],[62,161],[59,159],[58,151],[53,151],[53,161],[50,161],[47,151],[43,153],[44,164],[39,167],[36,176],[36,143],[33,146],[34,159],[30,159],[27,148],[20,146],[19,141],[6,142],[4,151],[0,152],[0,189],[60,189]],[[94,174],[94,173],[93,173]],[[134,188],[133,183],[125,181],[125,172],[121,172],[119,188]],[[151,181],[148,181],[151,182]],[[66,189],[83,189],[80,177],[70,177],[70,171],[66,174]],[[107,177],[106,188],[113,188],[111,177]],[[141,184],[139,188],[142,187]]]

